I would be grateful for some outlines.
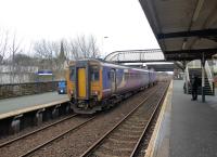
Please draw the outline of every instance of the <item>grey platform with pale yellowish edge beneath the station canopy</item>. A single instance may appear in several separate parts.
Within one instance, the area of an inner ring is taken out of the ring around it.
[[[217,156],[217,96],[191,101],[180,80],[168,92],[146,157]]]

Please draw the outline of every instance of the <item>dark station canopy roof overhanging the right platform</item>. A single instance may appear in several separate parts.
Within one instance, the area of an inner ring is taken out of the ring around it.
[[[167,61],[217,53],[217,0],[140,0]]]

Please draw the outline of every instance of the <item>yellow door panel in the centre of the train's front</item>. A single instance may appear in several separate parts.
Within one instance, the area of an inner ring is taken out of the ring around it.
[[[78,97],[86,97],[86,68],[78,68]]]

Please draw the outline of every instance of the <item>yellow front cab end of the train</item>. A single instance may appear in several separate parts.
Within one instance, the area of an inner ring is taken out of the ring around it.
[[[102,97],[102,69],[99,62],[78,61],[69,66],[69,97],[76,113],[91,114]],[[91,109],[93,108],[94,109]]]

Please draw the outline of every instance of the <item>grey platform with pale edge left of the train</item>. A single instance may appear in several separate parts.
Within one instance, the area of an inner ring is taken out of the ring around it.
[[[58,92],[0,100],[0,119],[67,101],[66,94]]]

